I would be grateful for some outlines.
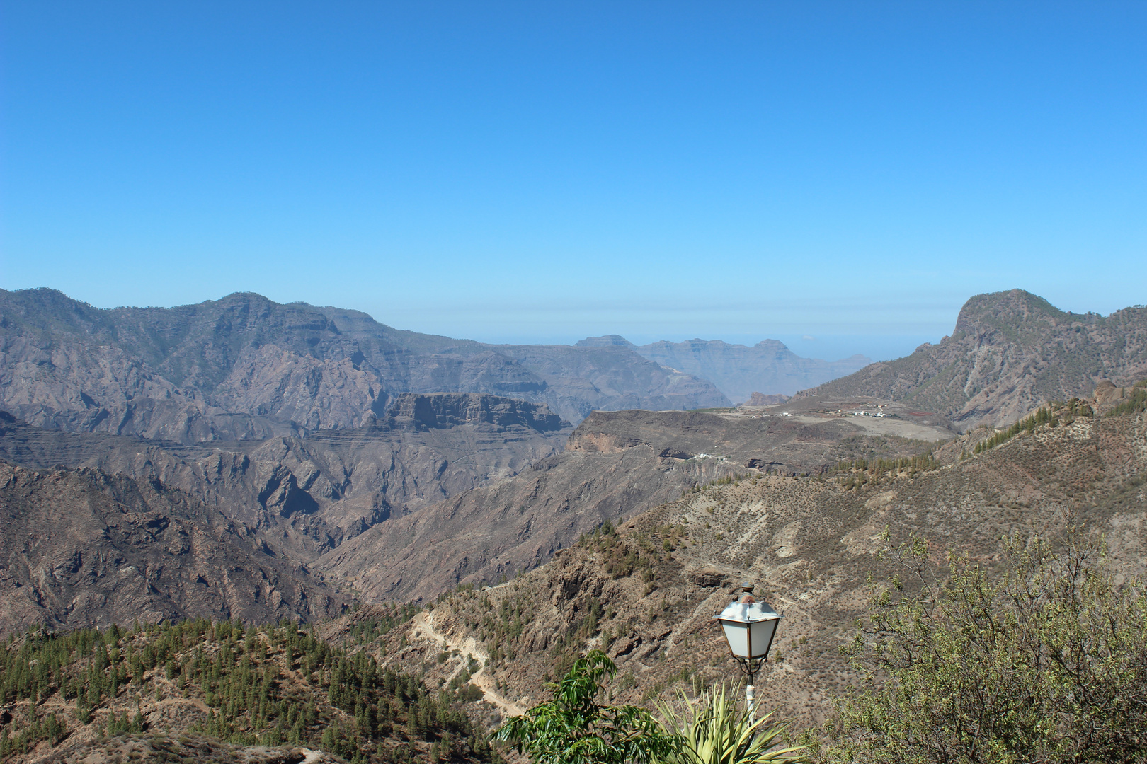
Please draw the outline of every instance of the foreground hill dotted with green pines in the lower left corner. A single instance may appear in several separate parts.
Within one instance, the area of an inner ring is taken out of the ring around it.
[[[376,608],[369,636],[413,614]],[[0,646],[0,693],[7,762],[494,759],[473,686],[430,688],[290,622],[31,632]]]

